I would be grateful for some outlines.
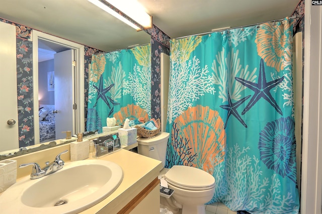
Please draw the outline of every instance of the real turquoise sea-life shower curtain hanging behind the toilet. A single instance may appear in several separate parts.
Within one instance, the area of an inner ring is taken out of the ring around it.
[[[292,24],[171,41],[167,164],[215,178],[209,203],[298,213]]]

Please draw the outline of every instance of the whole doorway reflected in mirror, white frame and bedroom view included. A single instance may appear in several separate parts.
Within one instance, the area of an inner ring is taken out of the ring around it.
[[[37,31],[33,41],[35,144],[84,132],[84,46]]]

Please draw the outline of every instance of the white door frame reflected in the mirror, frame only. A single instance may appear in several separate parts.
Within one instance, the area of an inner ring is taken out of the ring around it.
[[[58,38],[43,32],[33,30],[33,78],[34,78],[34,134],[35,144],[39,144],[39,100],[38,98],[38,39],[46,40],[61,46],[73,49],[75,53],[75,87],[74,97],[77,109],[75,111],[75,120],[73,126],[75,133],[85,131],[85,105],[84,105],[84,45],[80,45],[62,38]],[[35,84],[36,83],[36,84]]]

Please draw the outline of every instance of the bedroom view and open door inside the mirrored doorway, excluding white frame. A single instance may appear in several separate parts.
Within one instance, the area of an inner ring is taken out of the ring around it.
[[[72,123],[72,104],[74,103],[72,86],[74,72],[72,58],[68,54],[72,49],[50,41],[38,39],[38,101],[39,101],[39,137],[40,143],[62,139],[62,131],[75,133]],[[67,58],[59,57],[61,54]],[[60,66],[63,70],[60,69]],[[70,68],[68,68],[70,67]],[[67,70],[68,69],[68,70]],[[56,72],[55,72],[56,70]],[[61,82],[61,75],[64,84]],[[68,72],[70,74],[68,74]],[[56,73],[56,75],[55,75]],[[65,76],[66,75],[66,76]],[[55,84],[56,83],[56,84]],[[56,85],[56,88],[55,88]],[[63,88],[61,88],[63,87]],[[63,93],[61,93],[63,91]],[[68,92],[67,92],[68,91]],[[58,99],[55,101],[55,99]],[[64,100],[65,108],[60,106]],[[62,117],[62,111],[66,114]],[[61,123],[61,124],[60,124]]]

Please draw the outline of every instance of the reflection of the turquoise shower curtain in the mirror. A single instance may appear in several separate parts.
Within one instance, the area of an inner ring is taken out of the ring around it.
[[[106,126],[107,118],[148,119],[151,112],[150,44],[92,56],[87,130]]]

